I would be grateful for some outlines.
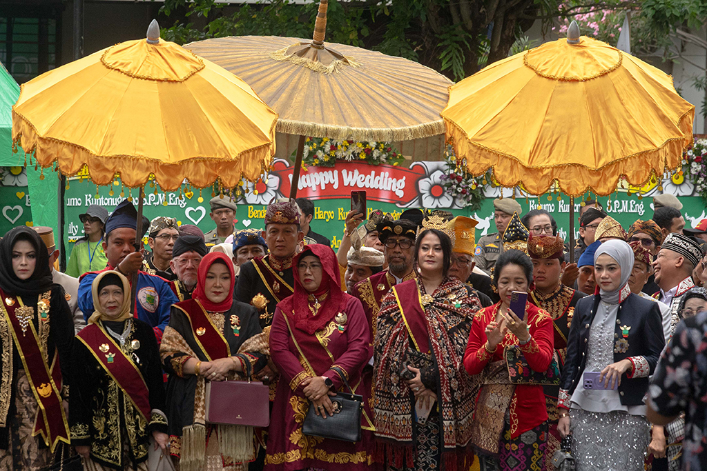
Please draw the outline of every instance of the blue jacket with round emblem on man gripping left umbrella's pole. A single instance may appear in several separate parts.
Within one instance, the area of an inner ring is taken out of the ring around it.
[[[83,318],[88,321],[93,314],[93,294],[90,290],[93,280],[98,273],[105,270],[115,270],[112,266],[107,266],[104,270],[84,273],[78,284],[78,307],[83,311]],[[132,283],[132,276],[127,277]],[[148,323],[155,330],[155,337],[159,342],[162,333],[170,321],[170,306],[179,299],[170,289],[167,280],[157,275],[150,275],[144,271],[139,272],[137,278],[137,296],[134,309],[136,318]]]

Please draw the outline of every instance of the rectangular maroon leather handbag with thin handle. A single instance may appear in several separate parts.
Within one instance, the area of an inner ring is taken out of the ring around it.
[[[244,362],[248,381],[206,383],[206,422],[267,427],[270,424],[268,386],[250,381],[250,362]]]

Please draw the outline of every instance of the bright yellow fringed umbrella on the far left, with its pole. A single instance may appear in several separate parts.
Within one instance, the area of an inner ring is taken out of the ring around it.
[[[173,42],[153,20],[146,40],[122,42],[21,86],[13,142],[67,176],[163,191],[255,181],[275,153],[277,114],[240,78]],[[136,244],[137,245],[137,244]],[[141,244],[139,244],[141,245]],[[133,282],[133,302],[136,278]]]

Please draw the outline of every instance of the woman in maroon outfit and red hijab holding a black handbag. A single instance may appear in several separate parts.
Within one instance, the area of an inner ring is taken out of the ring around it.
[[[368,470],[370,433],[357,443],[305,436],[309,407],[329,417],[330,396],[343,390],[337,367],[354,393],[368,400],[361,371],[371,356],[366,314],[358,299],[341,292],[334,251],[305,246],[293,260],[294,294],[277,305],[270,330],[270,354],[282,375],[277,386],[267,443],[265,470]],[[348,390],[346,390],[348,392]],[[368,422],[366,414],[362,424]]]

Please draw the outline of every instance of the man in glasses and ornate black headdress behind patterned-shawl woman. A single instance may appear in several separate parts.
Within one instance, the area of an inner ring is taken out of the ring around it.
[[[376,226],[378,239],[382,242],[388,269],[371,275],[360,281],[351,290],[351,296],[357,297],[363,304],[372,337],[375,338],[375,318],[378,317],[380,304],[393,285],[415,278],[415,237],[417,225],[410,220],[400,218],[394,221],[382,221]]]

